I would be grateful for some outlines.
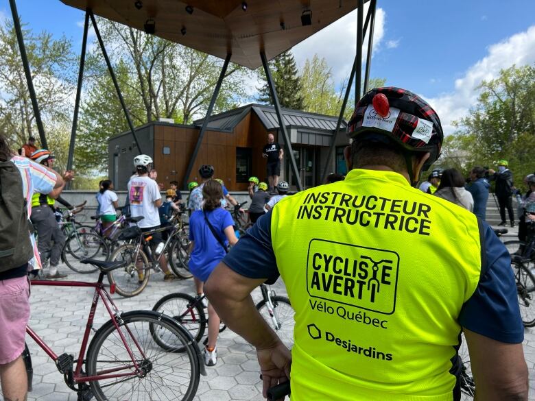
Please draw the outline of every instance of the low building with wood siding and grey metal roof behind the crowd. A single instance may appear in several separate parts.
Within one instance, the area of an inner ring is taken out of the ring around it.
[[[320,184],[337,117],[289,109],[282,109],[282,112],[301,182],[305,189],[316,186]],[[158,182],[163,182],[166,188],[170,181],[182,182],[201,125],[202,120],[193,125],[156,121],[136,127],[141,148],[154,159]],[[342,156],[348,143],[343,134],[345,130],[346,121],[342,121],[329,172],[345,173]],[[212,116],[188,181],[200,180],[198,169],[204,164],[213,165],[215,177],[224,180],[230,191],[245,191],[251,175],[267,180],[262,148],[267,143],[268,133],[272,133],[286,151],[279,132],[273,106],[249,104]],[[139,154],[132,133],[112,136],[108,141],[108,152],[110,180],[116,189],[126,189],[134,170],[132,160]],[[295,187],[287,158],[281,165],[281,179]]]

